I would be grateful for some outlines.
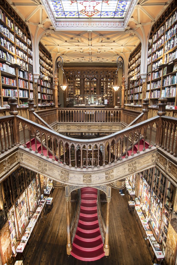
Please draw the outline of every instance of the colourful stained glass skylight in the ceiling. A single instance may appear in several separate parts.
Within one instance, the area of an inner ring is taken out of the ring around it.
[[[59,18],[124,18],[131,0],[48,0]]]

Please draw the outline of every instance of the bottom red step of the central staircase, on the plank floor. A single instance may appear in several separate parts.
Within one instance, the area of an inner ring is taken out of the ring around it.
[[[76,247],[73,247],[73,249],[71,250],[71,255],[79,260],[83,260],[83,261],[94,261],[94,260],[98,260],[102,257],[104,257],[105,253],[103,251],[103,247],[101,246],[101,248],[95,250],[95,251],[82,251]]]

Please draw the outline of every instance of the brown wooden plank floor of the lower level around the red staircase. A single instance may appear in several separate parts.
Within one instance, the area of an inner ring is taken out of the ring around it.
[[[25,247],[24,265],[152,265],[151,255],[133,212],[128,211],[128,195],[121,196],[112,189],[110,203],[109,245],[110,255],[93,262],[83,262],[66,254],[65,190],[54,189],[51,212],[46,213],[30,244]],[[106,212],[106,203],[102,203]],[[71,207],[73,206],[73,207]],[[76,206],[70,204],[70,213]],[[46,218],[45,218],[46,217]]]

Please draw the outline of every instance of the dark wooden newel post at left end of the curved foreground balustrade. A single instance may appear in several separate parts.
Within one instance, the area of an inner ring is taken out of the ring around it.
[[[12,127],[12,132],[13,132],[13,139],[14,139],[14,145],[19,146],[20,145],[20,137],[19,137],[19,126],[17,125],[17,119],[16,119],[16,115],[19,114],[19,112],[17,111],[17,99],[12,97],[9,98],[8,101],[10,101],[9,105],[10,105],[10,114],[14,115],[14,126]]]

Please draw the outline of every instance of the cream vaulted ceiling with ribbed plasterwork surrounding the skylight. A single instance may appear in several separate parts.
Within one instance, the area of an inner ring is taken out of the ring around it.
[[[124,19],[56,19],[48,0],[8,0],[53,58],[65,62],[115,62],[147,41],[153,23],[171,0],[132,0]],[[56,1],[57,2],[57,1]]]

